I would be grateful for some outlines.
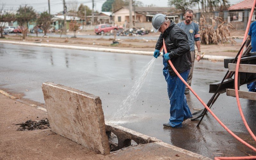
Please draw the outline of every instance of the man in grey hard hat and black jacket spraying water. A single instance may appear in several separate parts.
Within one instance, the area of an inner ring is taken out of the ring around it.
[[[191,118],[192,115],[184,94],[185,84],[175,74],[167,61],[172,60],[172,64],[180,76],[187,81],[192,63],[188,36],[179,26],[161,13],[152,18],[152,25],[155,28],[155,32],[161,32],[156,43],[154,57],[157,58],[160,55],[163,39],[167,49],[167,53],[163,55],[163,74],[167,82],[167,92],[170,100],[170,119],[168,123],[163,125],[164,127],[179,128],[182,127],[182,122]]]

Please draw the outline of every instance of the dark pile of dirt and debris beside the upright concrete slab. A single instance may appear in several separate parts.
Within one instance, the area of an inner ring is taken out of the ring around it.
[[[31,131],[31,130],[40,130],[40,129],[46,129],[50,128],[49,120],[47,118],[42,120],[28,120],[25,123],[16,124],[20,125],[20,128],[17,129],[17,131]]]

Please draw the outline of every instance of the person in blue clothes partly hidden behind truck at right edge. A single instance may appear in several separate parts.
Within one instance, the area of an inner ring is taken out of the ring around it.
[[[256,52],[256,21],[252,22],[250,26],[250,30],[248,33],[248,42],[246,44],[246,47],[250,44],[251,41],[252,41],[251,52]],[[247,88],[249,89],[249,92],[256,92],[256,81],[250,84],[247,84]]]

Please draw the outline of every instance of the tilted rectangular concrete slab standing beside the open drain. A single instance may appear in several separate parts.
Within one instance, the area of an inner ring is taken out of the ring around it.
[[[98,96],[49,82],[42,89],[52,132],[97,153],[110,153]]]

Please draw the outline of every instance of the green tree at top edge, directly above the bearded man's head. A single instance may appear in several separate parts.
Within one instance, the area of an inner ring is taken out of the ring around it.
[[[187,9],[195,6],[195,3],[192,0],[168,0],[168,5],[180,9],[185,14]]]

